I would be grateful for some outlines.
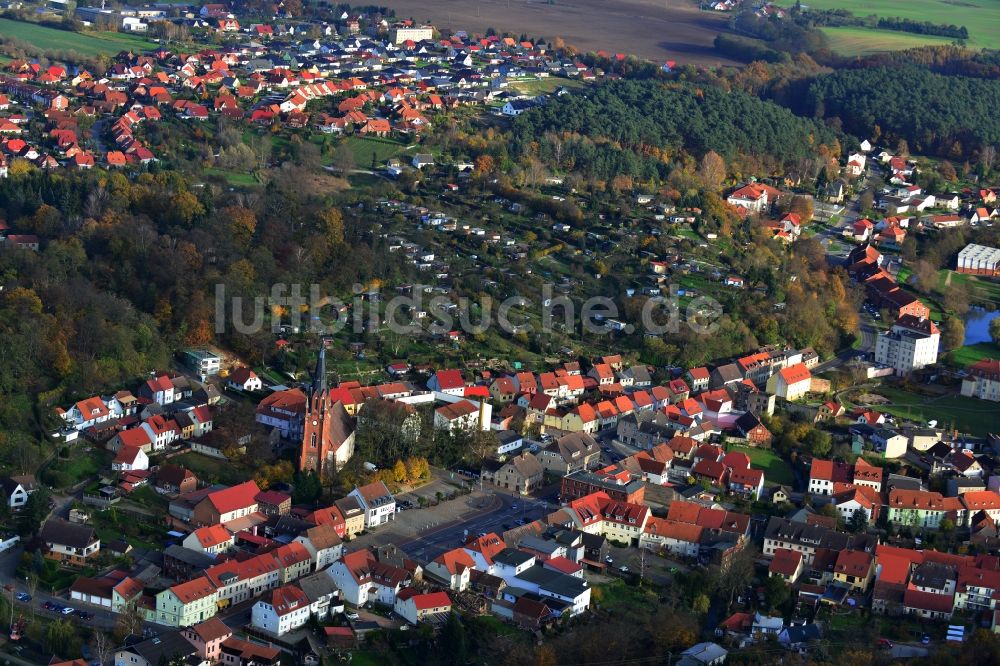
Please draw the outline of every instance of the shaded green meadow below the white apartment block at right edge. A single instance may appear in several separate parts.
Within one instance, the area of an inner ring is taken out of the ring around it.
[[[872,393],[892,401],[879,406],[879,411],[900,418],[924,423],[934,420],[939,427],[955,427],[980,437],[997,429],[996,405],[991,402],[960,395],[925,396],[888,386],[874,389]]]

